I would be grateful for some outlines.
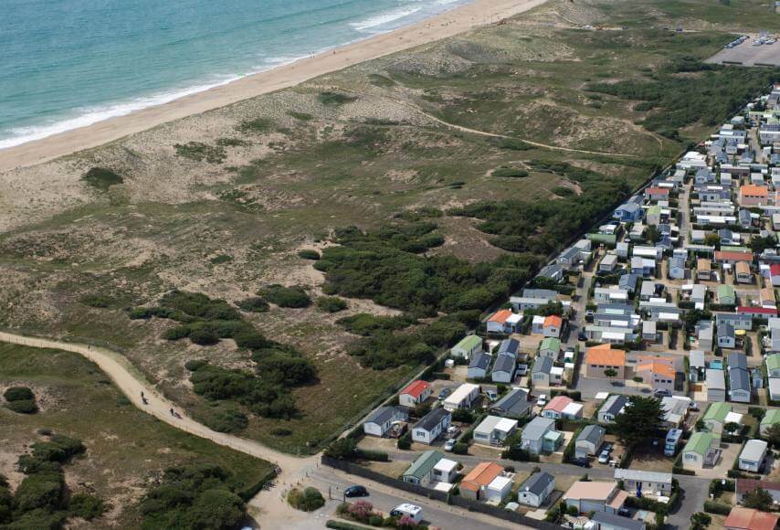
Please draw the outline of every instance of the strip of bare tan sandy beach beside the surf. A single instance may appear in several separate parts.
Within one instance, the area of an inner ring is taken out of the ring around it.
[[[301,58],[274,69],[258,72],[209,90],[186,95],[161,105],[146,107],[90,125],[58,132],[40,140],[0,150],[0,171],[51,161],[61,156],[111,143],[136,132],[152,129],[237,101],[287,89],[321,75],[374,58],[415,48],[471,28],[485,26],[501,18],[528,11],[546,0],[474,0],[410,26],[401,27]]]

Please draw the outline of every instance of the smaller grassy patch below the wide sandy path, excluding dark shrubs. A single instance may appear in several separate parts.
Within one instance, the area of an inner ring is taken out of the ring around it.
[[[14,483],[16,459],[38,429],[83,440],[86,456],[65,467],[72,492],[95,493],[111,502],[91,527],[138,527],[135,504],[170,466],[213,462],[250,487],[271,471],[266,461],[169,427],[133,407],[100,369],[79,355],[0,345],[0,389],[32,387],[40,411],[23,415],[0,407],[0,473]]]

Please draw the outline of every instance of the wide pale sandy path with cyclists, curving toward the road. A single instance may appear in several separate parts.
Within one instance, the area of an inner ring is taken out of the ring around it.
[[[281,472],[277,479],[277,482],[280,484],[292,483],[299,480],[298,475],[300,475],[301,472],[310,466],[316,465],[317,461],[319,461],[318,456],[297,458],[283,452],[274,451],[258,441],[248,440],[223,432],[216,432],[216,430],[207,428],[205,425],[195,421],[195,419],[188,417],[171,401],[163,398],[162,394],[160,394],[153,385],[131,365],[130,361],[123,355],[108,348],[30,337],[21,334],[10,334],[6,332],[0,332],[0,342],[35,348],[64,350],[87,357],[90,361],[98,365],[106,375],[111,377],[111,380],[119,387],[121,393],[130,399],[135,407],[140,408],[147,414],[151,414],[155,418],[164,421],[176,429],[184,430],[184,432],[188,432],[199,438],[211,440],[216,444],[276,464],[281,468]],[[143,397],[146,399],[145,404],[141,398],[142,392]],[[175,411],[176,416],[172,414],[172,409]],[[258,497],[270,497],[271,495],[274,499],[279,496],[278,493],[258,493]],[[259,499],[256,497],[256,499],[253,500],[253,504],[258,500]]]

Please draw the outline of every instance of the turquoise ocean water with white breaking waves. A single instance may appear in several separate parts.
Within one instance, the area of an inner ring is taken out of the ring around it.
[[[0,149],[100,122],[469,0],[5,0]]]

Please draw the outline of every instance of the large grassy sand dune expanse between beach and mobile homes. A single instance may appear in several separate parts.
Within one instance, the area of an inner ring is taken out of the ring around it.
[[[0,212],[13,227],[0,235],[0,325],[110,345],[203,418],[210,404],[192,392],[184,363],[248,368],[248,352],[231,340],[165,341],[173,323],[131,321],[129,308],[153,305],[173,288],[237,302],[271,283],[301,285],[316,300],[323,275],[298,250],[332,244],[336,228],[375,228],[421,207],[446,212],[477,201],[559,200],[564,188],[581,193],[574,180],[535,169],[540,160],[640,185],[708,125],[690,123],[670,139],[641,124],[657,110],[637,111],[636,101],[586,87],[655,80],[680,56],[705,58],[728,31],[758,25],[762,9],[738,0],[551,0],[502,26],[39,166],[46,189]],[[662,29],[682,15],[697,31]],[[92,167],[111,168],[121,184],[81,180]],[[521,170],[528,175],[499,176]],[[476,219],[436,222],[445,243],[431,253],[471,262],[506,253]],[[96,296],[100,303],[90,302]],[[412,367],[374,371],[344,354],[356,336],[338,318],[393,313],[347,302],[337,314],[313,304],[245,315],[319,370],[317,384],[295,390],[299,418],[252,418],[248,436],[285,451],[316,450],[410,376]],[[291,432],[271,434],[279,429]]]

